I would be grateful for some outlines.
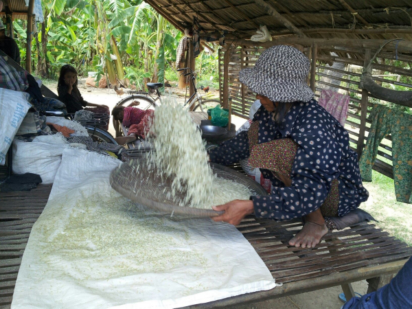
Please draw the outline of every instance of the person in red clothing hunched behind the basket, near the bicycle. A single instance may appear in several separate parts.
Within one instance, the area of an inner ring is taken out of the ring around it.
[[[117,137],[116,141],[118,144],[132,143],[137,139],[137,137],[146,137],[146,132],[148,125],[150,124],[150,119],[153,117],[155,111],[152,109],[140,109],[133,106],[139,105],[139,102],[132,102],[129,106],[116,106],[113,108],[112,115],[113,118],[122,122],[124,126],[128,129],[128,136]]]

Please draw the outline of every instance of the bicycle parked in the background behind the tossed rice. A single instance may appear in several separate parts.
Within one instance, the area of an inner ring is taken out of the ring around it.
[[[183,104],[184,107],[190,109],[193,107],[192,111],[194,112],[205,112],[205,110],[209,108],[214,108],[217,105],[220,105],[219,100],[208,99],[203,100],[202,95],[198,92],[196,88],[196,72],[192,71],[192,69],[185,67],[182,69],[177,69],[177,71],[187,71],[187,73],[183,73],[184,76],[190,76],[190,82],[192,82],[194,93],[190,96],[189,99]],[[152,89],[156,91],[156,95],[151,95],[145,91],[127,91],[130,95],[122,100],[120,100],[116,106],[124,106],[128,102],[139,102],[139,108],[141,109],[154,109],[158,104],[161,104],[161,93],[159,89],[163,87],[161,82],[148,82],[147,83],[148,89]],[[122,130],[120,129],[120,122],[113,118],[113,126],[115,127],[116,137],[122,136]]]

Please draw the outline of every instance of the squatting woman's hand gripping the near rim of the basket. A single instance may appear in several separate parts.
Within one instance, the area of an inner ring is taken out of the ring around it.
[[[211,217],[214,221],[224,221],[231,225],[238,225],[248,214],[253,214],[253,201],[234,200],[225,205],[214,206],[216,211],[225,211],[224,214]]]

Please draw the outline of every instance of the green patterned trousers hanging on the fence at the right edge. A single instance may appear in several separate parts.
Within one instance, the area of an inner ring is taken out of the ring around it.
[[[372,181],[372,166],[380,141],[392,135],[393,181],[396,201],[411,204],[412,193],[412,115],[374,104],[369,115],[371,128],[359,168],[363,181]]]

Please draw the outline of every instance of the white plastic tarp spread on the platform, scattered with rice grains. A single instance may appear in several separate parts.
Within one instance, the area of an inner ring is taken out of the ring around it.
[[[111,189],[118,160],[67,148],[25,248],[12,308],[179,308],[275,287],[233,226],[183,220]]]

